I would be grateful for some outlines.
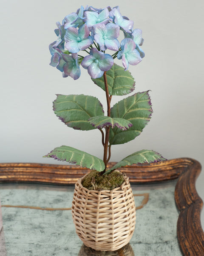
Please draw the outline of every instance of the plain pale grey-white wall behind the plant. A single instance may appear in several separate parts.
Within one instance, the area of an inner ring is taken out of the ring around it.
[[[112,147],[111,161],[147,148],[168,159],[192,157],[204,166],[202,0],[2,0],[0,162],[59,164],[42,156],[60,145],[102,157],[99,131],[68,128],[52,111],[56,93],[93,95],[105,105],[104,91],[91,82],[86,70],[74,81],[49,66],[48,44],[56,40],[55,22],[81,5],[119,5],[134,28],[143,30],[146,56],[129,70],[136,79],[135,92],[151,90],[154,113],[139,137]],[[114,96],[112,102],[119,99],[122,96]],[[203,182],[201,173],[196,186],[202,199]]]

